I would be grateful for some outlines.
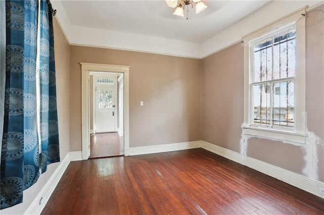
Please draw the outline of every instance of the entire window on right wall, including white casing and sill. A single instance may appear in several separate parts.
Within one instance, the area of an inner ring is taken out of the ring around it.
[[[244,134],[305,143],[305,19],[291,15],[244,38]]]

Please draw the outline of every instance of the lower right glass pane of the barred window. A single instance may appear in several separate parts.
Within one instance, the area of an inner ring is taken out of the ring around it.
[[[293,128],[295,123],[294,81],[273,83],[272,125]]]

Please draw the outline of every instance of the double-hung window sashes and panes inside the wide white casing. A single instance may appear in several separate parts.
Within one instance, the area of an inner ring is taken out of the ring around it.
[[[293,129],[295,116],[295,25],[250,43],[251,124]],[[281,89],[281,90],[280,90]]]

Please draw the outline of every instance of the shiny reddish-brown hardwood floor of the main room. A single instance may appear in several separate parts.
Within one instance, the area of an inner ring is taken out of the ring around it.
[[[324,199],[199,148],[71,162],[42,214],[324,214]]]

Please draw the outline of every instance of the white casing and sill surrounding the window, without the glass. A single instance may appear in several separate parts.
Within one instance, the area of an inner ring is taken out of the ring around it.
[[[260,136],[283,141],[305,143],[306,141],[306,27],[305,9],[298,11],[284,19],[257,30],[243,38],[244,41],[244,123],[242,124],[243,134]],[[296,76],[295,76],[295,128],[270,128],[252,124],[251,90],[252,82],[250,45],[253,41],[269,36],[275,31],[287,28],[289,25],[296,25]]]

